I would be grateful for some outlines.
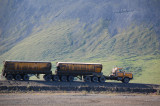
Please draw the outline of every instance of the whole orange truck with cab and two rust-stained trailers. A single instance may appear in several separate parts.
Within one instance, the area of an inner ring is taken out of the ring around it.
[[[79,78],[85,82],[105,82],[106,80],[117,80],[129,83],[133,79],[132,73],[114,68],[112,74],[105,76],[102,73],[100,63],[78,63],[78,62],[57,62],[55,73],[52,74],[51,62],[25,62],[25,61],[5,61],[2,76],[7,80],[29,80],[29,75],[44,74],[46,81],[72,82],[74,78]]]

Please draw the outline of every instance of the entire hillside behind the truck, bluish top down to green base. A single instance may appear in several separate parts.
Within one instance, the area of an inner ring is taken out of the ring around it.
[[[2,0],[0,61],[101,62],[106,74],[118,65],[135,82],[160,83],[159,3]]]

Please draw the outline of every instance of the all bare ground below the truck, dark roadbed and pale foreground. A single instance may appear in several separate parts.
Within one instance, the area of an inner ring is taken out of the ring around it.
[[[0,106],[159,106],[160,85],[0,80]]]

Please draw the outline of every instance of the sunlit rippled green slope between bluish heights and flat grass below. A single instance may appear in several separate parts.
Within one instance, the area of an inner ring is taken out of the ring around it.
[[[101,21],[87,32],[85,28],[72,34],[78,20],[58,22],[33,32],[29,37],[1,56],[16,60],[92,60],[117,56],[159,55],[159,42],[152,27],[129,27],[111,37]],[[85,23],[84,23],[85,24]],[[82,25],[84,25],[82,24]]]

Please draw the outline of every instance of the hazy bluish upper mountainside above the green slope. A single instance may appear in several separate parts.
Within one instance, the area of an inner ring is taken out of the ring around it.
[[[158,0],[122,0],[121,2],[118,0],[1,0],[0,54],[30,36],[34,29],[43,30],[44,26],[49,27],[51,23],[54,24],[57,21],[78,19],[81,24],[85,23],[84,28],[89,27],[86,31],[90,32],[94,30],[93,25],[98,25],[96,23],[102,19],[103,27],[107,27],[111,36],[118,34],[131,24],[143,23],[144,27],[153,26],[159,34],[160,7],[158,4]],[[81,24],[77,25],[72,32],[75,36],[78,34],[76,30],[81,29]]]

